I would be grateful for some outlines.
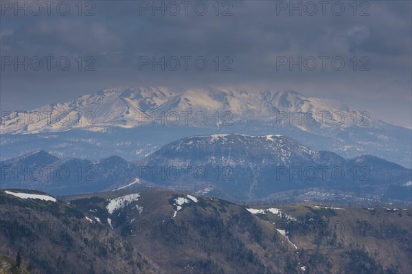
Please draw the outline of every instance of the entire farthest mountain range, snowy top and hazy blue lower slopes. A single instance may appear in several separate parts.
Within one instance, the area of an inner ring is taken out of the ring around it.
[[[295,91],[104,89],[28,112],[2,113],[1,159],[33,150],[128,160],[192,135],[291,136],[342,157],[376,155],[411,167],[412,131],[341,102]]]

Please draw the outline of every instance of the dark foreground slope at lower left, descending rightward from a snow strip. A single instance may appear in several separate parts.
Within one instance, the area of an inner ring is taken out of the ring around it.
[[[113,231],[43,192],[1,190],[0,222],[2,255],[19,252],[30,273],[156,271]]]

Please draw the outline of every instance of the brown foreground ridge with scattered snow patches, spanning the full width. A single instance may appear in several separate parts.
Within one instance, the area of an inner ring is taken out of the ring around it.
[[[412,267],[410,209],[236,205],[155,188],[60,198],[1,190],[0,223],[1,266],[15,266],[19,253],[19,269],[30,273],[408,273]]]

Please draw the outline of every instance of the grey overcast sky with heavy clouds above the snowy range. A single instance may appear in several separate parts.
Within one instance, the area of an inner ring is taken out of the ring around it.
[[[158,1],[164,15],[152,1],[43,2],[0,2],[1,111],[106,87],[293,89],[412,126],[411,1]]]

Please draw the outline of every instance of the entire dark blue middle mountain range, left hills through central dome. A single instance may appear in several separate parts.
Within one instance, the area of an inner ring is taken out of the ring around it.
[[[370,155],[345,159],[282,135],[187,137],[135,162],[58,159],[38,151],[2,161],[0,168],[3,188],[58,195],[157,185],[230,201],[299,199],[314,190],[410,201],[412,187],[411,170],[396,163]]]

